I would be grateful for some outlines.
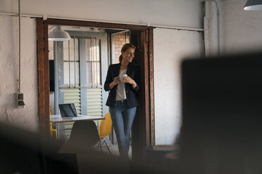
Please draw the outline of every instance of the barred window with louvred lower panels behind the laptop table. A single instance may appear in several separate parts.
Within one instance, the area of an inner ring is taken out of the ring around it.
[[[101,38],[71,37],[70,41],[49,41],[49,58],[56,67],[55,113],[58,104],[75,103],[77,114],[103,116],[107,96],[103,97],[101,66],[107,66],[107,57],[102,60],[101,55],[107,53],[101,53]]]

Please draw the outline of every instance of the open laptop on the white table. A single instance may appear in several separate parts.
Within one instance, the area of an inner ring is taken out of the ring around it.
[[[65,103],[58,105],[62,119],[80,119],[87,116],[77,116],[77,111],[75,109],[74,103]]]

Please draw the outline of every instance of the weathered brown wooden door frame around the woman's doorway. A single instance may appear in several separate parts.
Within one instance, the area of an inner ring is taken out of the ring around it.
[[[111,29],[130,29],[139,32],[139,60],[141,69],[141,91],[139,92],[139,113],[132,135],[135,154],[140,154],[144,147],[155,144],[154,133],[154,67],[153,67],[153,27],[141,25],[125,25],[107,22],[89,22],[80,20],[61,20],[37,18],[37,69],[38,69],[38,100],[39,100],[39,131],[50,135],[49,125],[49,47],[48,25],[70,25],[82,27],[101,27]]]

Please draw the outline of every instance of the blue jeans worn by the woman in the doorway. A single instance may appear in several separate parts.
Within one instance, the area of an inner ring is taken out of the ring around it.
[[[137,107],[128,108],[126,100],[116,101],[115,107],[110,107],[113,128],[118,140],[120,156],[127,157],[130,147],[130,131],[135,119]]]

